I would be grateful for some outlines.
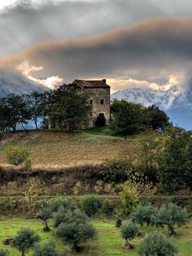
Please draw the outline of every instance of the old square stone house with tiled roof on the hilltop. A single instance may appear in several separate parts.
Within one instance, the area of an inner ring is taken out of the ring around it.
[[[91,105],[90,119],[84,121],[84,128],[94,127],[96,118],[103,115],[110,120],[110,86],[106,79],[102,80],[74,80],[74,84],[82,87],[84,95],[88,97]]]

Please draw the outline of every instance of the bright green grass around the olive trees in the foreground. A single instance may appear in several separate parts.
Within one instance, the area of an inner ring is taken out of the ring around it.
[[[93,224],[96,227],[98,236],[95,241],[90,241],[84,245],[84,251],[82,253],[69,253],[70,256],[81,255],[81,256],[111,256],[111,255],[137,255],[137,247],[146,232],[154,230],[151,227],[143,227],[141,230],[142,236],[137,237],[131,244],[135,246],[131,251],[125,251],[122,246],[124,245],[124,240],[121,238],[119,229],[114,227],[114,220],[106,219],[94,219]],[[51,226],[51,223],[50,223]],[[3,219],[0,221],[0,247],[7,249],[11,256],[20,256],[15,249],[10,246],[4,246],[3,239],[11,236],[15,236],[17,230],[21,227],[30,227],[37,231],[42,238],[42,242],[46,241],[51,237],[55,240],[55,237],[51,232],[44,233],[42,231],[43,225],[40,220],[37,219],[25,219],[21,217],[14,218],[13,221],[10,219]],[[161,229],[160,229],[161,230]],[[164,232],[167,234],[167,230]],[[183,228],[177,229],[178,235],[175,238],[177,246],[179,249],[179,256],[191,256],[192,251],[192,222]],[[56,240],[58,248],[63,247],[63,242],[59,239]],[[27,255],[32,255],[32,251]]]

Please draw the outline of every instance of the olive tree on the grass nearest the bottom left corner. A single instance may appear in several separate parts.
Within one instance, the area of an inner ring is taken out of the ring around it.
[[[24,228],[17,232],[11,246],[20,251],[22,256],[25,256],[26,252],[28,252],[31,247],[34,247],[35,243],[38,241],[40,241],[40,236],[36,235],[33,230]]]

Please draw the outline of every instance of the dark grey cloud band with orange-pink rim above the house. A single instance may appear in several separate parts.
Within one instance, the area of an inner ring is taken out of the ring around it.
[[[147,20],[91,38],[45,41],[2,58],[2,67],[28,61],[33,76],[153,79],[192,70],[192,17]]]

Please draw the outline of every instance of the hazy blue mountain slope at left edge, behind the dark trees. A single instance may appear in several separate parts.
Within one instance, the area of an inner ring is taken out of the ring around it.
[[[0,97],[9,94],[28,94],[32,91],[43,92],[44,90],[46,90],[44,86],[35,84],[18,73],[0,72]]]

